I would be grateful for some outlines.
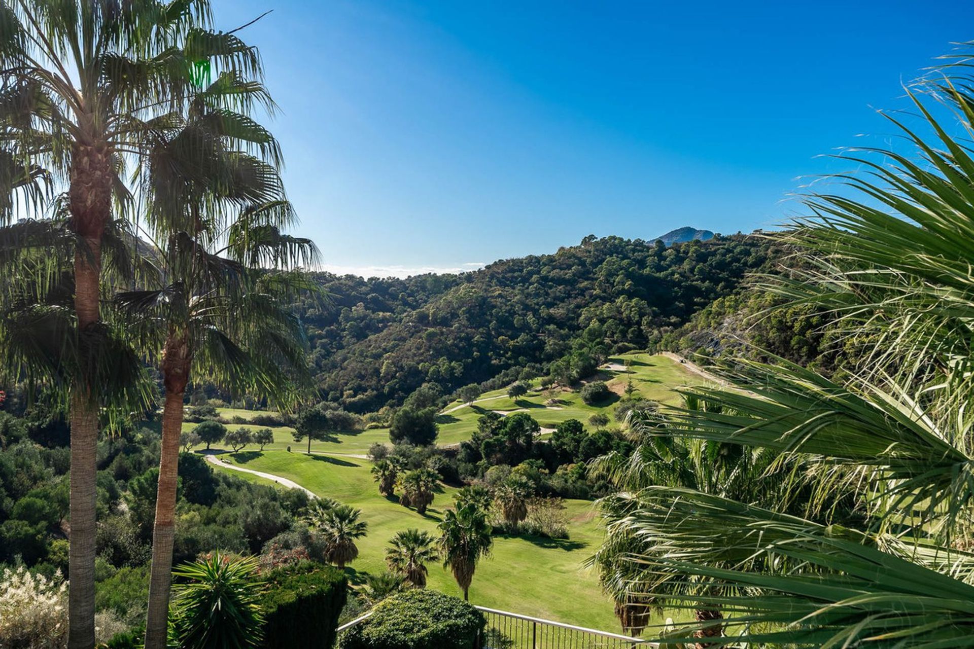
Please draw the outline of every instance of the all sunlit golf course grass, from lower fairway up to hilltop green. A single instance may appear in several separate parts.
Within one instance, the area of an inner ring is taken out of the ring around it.
[[[672,391],[673,387],[700,380],[679,363],[662,356],[633,353],[614,357],[610,362],[621,364],[626,359],[632,361],[633,383],[641,398],[675,403],[679,396]],[[605,371],[604,375],[603,378],[608,380],[610,386],[615,386],[619,391],[626,382],[622,373]],[[518,399],[516,403],[506,397],[506,390],[489,392],[481,399],[490,397],[502,398],[483,401],[472,407],[454,403],[444,409],[449,411],[460,406],[452,413],[441,415],[438,442],[456,444],[468,439],[476,429],[477,417],[488,409],[509,412],[526,408],[544,427],[550,427],[558,421],[573,417],[587,421],[590,415],[597,412],[605,412],[611,416],[615,405],[610,402],[598,407],[586,406],[581,403],[577,392],[563,392],[560,395],[562,410],[545,408],[544,398],[537,390]],[[226,416],[234,414],[241,413],[226,413]],[[187,428],[193,425],[185,424]],[[251,448],[237,456],[224,457],[249,469],[288,478],[319,495],[336,498],[361,508],[363,519],[369,523],[369,534],[359,543],[359,558],[350,571],[383,570],[385,547],[396,531],[407,527],[432,531],[439,521],[442,509],[452,503],[455,489],[444,487],[444,491],[436,495],[428,515],[422,517],[379,494],[369,474],[370,464],[367,460],[350,456],[308,456],[299,452],[307,447],[295,443],[290,432],[291,429],[287,427],[275,429],[275,444],[263,454],[254,452]],[[335,441],[331,442],[314,442],[312,450],[360,454],[375,442],[388,441],[388,430],[368,430],[356,434],[337,434]],[[291,446],[294,452],[284,451],[287,446]],[[220,445],[216,448],[220,448]],[[267,482],[241,472],[234,472],[234,475]],[[483,561],[477,568],[470,589],[471,600],[484,606],[583,627],[617,631],[618,623],[613,615],[612,603],[600,592],[595,574],[581,565],[601,541],[602,532],[594,521],[592,504],[581,500],[570,500],[566,504],[571,519],[571,538],[567,541],[550,541],[541,538],[498,537],[493,559]],[[438,566],[431,566],[430,572],[431,588],[459,594],[449,572]]]

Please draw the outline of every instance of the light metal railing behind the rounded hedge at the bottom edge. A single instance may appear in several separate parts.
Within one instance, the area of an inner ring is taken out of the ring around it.
[[[638,637],[585,629],[486,606],[475,608],[487,618],[487,626],[477,643],[478,649],[649,649],[657,646],[656,642]],[[338,628],[339,636],[371,615],[366,613],[342,625]]]

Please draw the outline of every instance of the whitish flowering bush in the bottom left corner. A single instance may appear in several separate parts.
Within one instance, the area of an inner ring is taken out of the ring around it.
[[[67,643],[67,584],[20,566],[0,579],[0,647],[56,649]]]

